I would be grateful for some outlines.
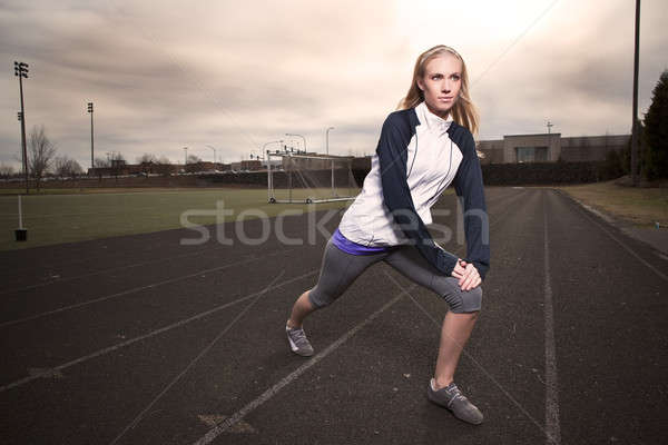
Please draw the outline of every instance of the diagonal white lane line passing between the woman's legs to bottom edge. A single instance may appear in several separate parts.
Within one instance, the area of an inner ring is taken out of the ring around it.
[[[416,285],[413,285],[412,287],[416,287]],[[248,413],[253,412],[259,405],[264,404],[269,398],[274,397],[274,395],[276,395],[284,386],[291,384],[293,380],[295,380],[297,377],[299,377],[302,374],[304,374],[308,368],[311,368],[312,366],[317,364],[320,360],[322,360],[323,358],[328,356],[331,353],[333,353],[338,346],[343,345],[348,338],[351,338],[353,335],[355,335],[360,329],[362,329],[364,326],[369,325],[381,313],[383,313],[389,307],[391,307],[396,301],[399,301],[399,299],[401,297],[403,297],[404,294],[405,294],[405,291],[400,293],[396,297],[392,298],[389,303],[383,305],[383,307],[381,307],[375,313],[370,315],[364,322],[360,323],[357,326],[353,327],[351,330],[348,330],[347,333],[345,333],[344,335],[338,337],[338,339],[336,339],[333,344],[331,344],[322,353],[316,354],[313,358],[308,359],[308,362],[306,362],[305,364],[299,366],[297,369],[293,370],[291,374],[288,374],[286,377],[284,377],[281,382],[278,382],[277,384],[275,384],[274,386],[272,386],[271,388],[265,390],[259,397],[249,402],[242,409],[237,411],[232,416],[227,417],[225,421],[223,421],[222,424],[219,424],[215,428],[209,429],[208,433],[206,433],[197,442],[195,442],[195,445],[210,444],[213,441],[216,439],[216,437],[218,437],[220,434],[225,433],[228,428],[230,428],[233,425],[235,425],[237,422],[239,422],[242,418],[244,418],[246,415],[248,415]]]

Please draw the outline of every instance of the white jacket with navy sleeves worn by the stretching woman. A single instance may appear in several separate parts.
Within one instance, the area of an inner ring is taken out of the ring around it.
[[[338,230],[364,246],[413,244],[426,260],[450,276],[458,257],[434,243],[426,229],[431,207],[454,184],[464,209],[466,263],[480,277],[490,267],[489,218],[482,170],[473,136],[465,127],[434,115],[424,101],[391,112],[364,178]]]

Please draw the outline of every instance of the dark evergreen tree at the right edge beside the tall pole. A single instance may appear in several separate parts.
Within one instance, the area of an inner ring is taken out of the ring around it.
[[[649,180],[668,177],[668,70],[664,70],[651,93],[651,105],[645,113],[645,170]]]

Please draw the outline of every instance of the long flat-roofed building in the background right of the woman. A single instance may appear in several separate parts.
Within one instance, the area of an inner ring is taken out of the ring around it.
[[[562,138],[561,134],[508,135],[503,139],[481,140],[481,164],[582,162],[605,160],[610,150],[620,150],[630,135],[581,136]]]

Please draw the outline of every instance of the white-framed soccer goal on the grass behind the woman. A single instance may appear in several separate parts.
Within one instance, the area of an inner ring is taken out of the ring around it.
[[[341,201],[355,199],[360,192],[352,156],[267,151],[267,159],[269,202]]]

